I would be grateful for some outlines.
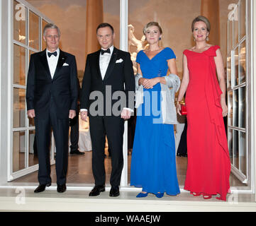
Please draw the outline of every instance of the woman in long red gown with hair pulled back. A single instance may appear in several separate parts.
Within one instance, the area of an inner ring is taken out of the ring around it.
[[[194,196],[218,195],[226,201],[230,157],[223,122],[228,114],[223,59],[220,47],[206,42],[211,28],[207,18],[195,18],[191,28],[195,46],[183,52],[177,99],[180,114],[180,101],[186,93],[188,165],[184,189]]]

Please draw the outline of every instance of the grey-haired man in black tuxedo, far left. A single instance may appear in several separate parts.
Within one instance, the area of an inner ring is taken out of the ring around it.
[[[32,54],[28,69],[28,117],[35,118],[38,148],[38,182],[35,193],[51,185],[50,131],[56,146],[57,191],[66,191],[69,119],[77,109],[77,63],[75,57],[59,49],[60,30],[48,24],[43,30],[47,49]]]

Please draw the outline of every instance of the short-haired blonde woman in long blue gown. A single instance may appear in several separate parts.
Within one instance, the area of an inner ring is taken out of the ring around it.
[[[157,198],[165,193],[175,196],[179,194],[179,184],[174,126],[162,123],[161,84],[167,84],[168,69],[177,74],[176,57],[169,47],[160,48],[162,28],[158,23],[148,23],[143,32],[150,46],[148,50],[138,52],[136,59],[137,73],[142,75],[138,85],[143,85],[143,104],[137,110],[130,185],[142,188],[138,198],[148,196],[148,193]],[[172,106],[174,108],[174,103]]]

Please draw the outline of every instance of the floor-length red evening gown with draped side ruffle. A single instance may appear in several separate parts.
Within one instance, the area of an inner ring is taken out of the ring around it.
[[[187,106],[187,175],[184,189],[219,194],[226,201],[230,189],[230,157],[220,104],[221,88],[214,57],[218,46],[198,53],[184,51],[189,69]]]

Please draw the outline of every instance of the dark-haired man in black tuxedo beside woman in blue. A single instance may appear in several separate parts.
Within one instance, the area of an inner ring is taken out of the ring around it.
[[[87,121],[87,114],[89,116],[91,133],[92,171],[95,186],[89,196],[98,196],[101,191],[105,191],[104,147],[106,136],[111,148],[112,166],[109,195],[118,196],[123,169],[124,120],[129,119],[133,112],[135,91],[133,64],[128,52],[113,47],[115,33],[110,24],[101,23],[96,30],[96,35],[101,49],[87,56],[80,110],[81,118],[84,121]],[[111,98],[108,101],[108,94],[111,93],[112,97],[116,91],[122,93],[124,98],[116,100]],[[94,100],[90,98],[92,92],[99,94],[97,100],[99,105],[96,107],[94,107]],[[130,98],[128,98],[128,93],[132,93]],[[101,95],[104,98],[101,98]],[[121,102],[121,106],[119,113],[116,114],[112,109],[116,107],[118,101]]]

